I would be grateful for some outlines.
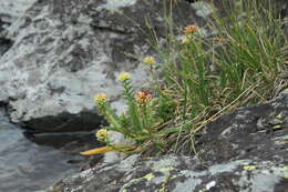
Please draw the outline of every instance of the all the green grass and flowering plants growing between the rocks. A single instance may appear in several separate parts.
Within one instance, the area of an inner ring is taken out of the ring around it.
[[[227,2],[229,9],[215,8],[205,27],[213,34],[203,36],[202,28],[188,26],[178,30],[181,40],[169,33],[165,44],[152,42],[158,62],[148,55],[143,63],[155,81],[155,94],[136,93],[131,75],[122,73],[120,81],[128,105],[125,114],[116,115],[105,94],[95,95],[97,110],[110,123],[96,137],[110,150],[196,153],[194,143],[208,122],[272,97],[275,79],[285,70],[288,55],[282,21],[269,1]],[[155,69],[160,62],[165,65],[161,83]],[[106,130],[123,133],[133,144],[113,144]]]

